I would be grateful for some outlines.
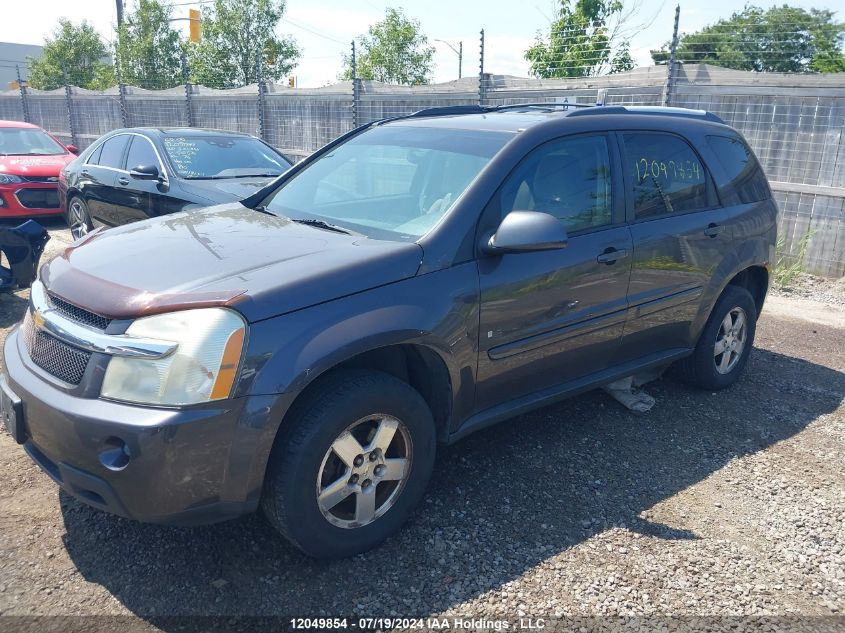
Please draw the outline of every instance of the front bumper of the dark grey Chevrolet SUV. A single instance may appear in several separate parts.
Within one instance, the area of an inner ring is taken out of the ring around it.
[[[3,350],[23,405],[19,441],[69,494],[150,523],[212,523],[257,508],[277,397],[183,409],[79,397],[46,379],[20,339],[16,329]],[[116,447],[125,453],[117,460]]]

